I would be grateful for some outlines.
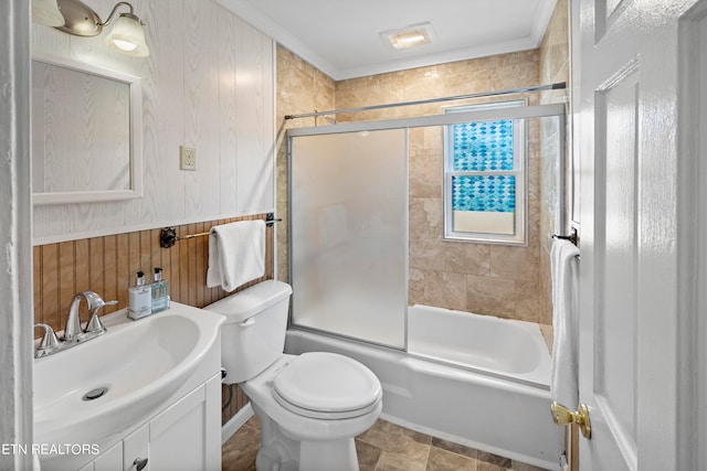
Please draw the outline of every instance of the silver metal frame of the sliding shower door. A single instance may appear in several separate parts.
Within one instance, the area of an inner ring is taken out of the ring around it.
[[[566,179],[566,164],[564,164],[564,156],[566,156],[566,105],[564,104],[549,104],[549,105],[532,105],[532,106],[520,106],[520,107],[509,107],[509,108],[490,108],[490,109],[478,109],[472,111],[464,113],[454,113],[454,114],[444,114],[444,115],[432,115],[432,116],[419,116],[411,118],[397,118],[397,119],[386,119],[379,121],[356,121],[356,122],[345,122],[345,124],[336,124],[331,126],[315,126],[315,127],[304,127],[304,128],[293,128],[288,129],[286,132],[287,139],[287,275],[291,283],[294,285],[293,280],[293,207],[292,207],[292,193],[293,193],[293,154],[292,154],[292,140],[295,137],[303,136],[321,136],[321,135],[336,135],[336,133],[347,133],[347,132],[362,132],[362,131],[377,131],[377,130],[388,130],[388,129],[405,129],[405,132],[410,130],[410,128],[423,128],[423,127],[433,127],[433,126],[446,126],[446,125],[457,125],[469,121],[489,121],[497,119],[532,119],[532,118],[548,118],[548,117],[557,117],[560,120],[559,129],[560,137],[559,139],[562,141],[561,152],[560,152],[560,161],[559,161],[559,188],[558,192],[562,197],[560,199],[560,211],[559,211],[559,227],[561,231],[566,229],[566,211],[564,211],[564,179]],[[407,136],[407,135],[405,135]],[[405,144],[407,153],[409,152],[409,148]],[[409,154],[405,157],[409,159]],[[442,172],[443,169],[440,169]],[[409,178],[408,178],[409,180]],[[571,200],[570,200],[571,201]],[[409,214],[407,220],[409,220]],[[409,233],[409,226],[408,227]],[[405,250],[409,248],[409,240],[405,238]],[[408,268],[408,263],[405,263],[405,267]],[[409,269],[408,269],[409,271]],[[408,286],[408,281],[405,281],[405,286]],[[409,292],[409,290],[408,290]],[[403,332],[403,347],[395,349],[391,345],[380,344],[377,342],[372,342],[367,339],[359,339],[356,336],[345,335],[336,332],[329,332],[321,329],[316,329],[306,325],[299,325],[293,323],[293,311],[294,307],[291,304],[291,312],[287,320],[287,327],[300,329],[304,331],[316,332],[324,335],[330,335],[339,339],[348,339],[356,342],[365,342],[368,344],[373,344],[377,346],[381,346],[384,349],[400,350],[403,352],[408,351],[408,303],[404,306],[404,332]]]

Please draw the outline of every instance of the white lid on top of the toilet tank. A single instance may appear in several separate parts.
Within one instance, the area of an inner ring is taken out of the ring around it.
[[[242,322],[292,295],[292,287],[283,281],[267,280],[233,293],[203,309],[226,317],[229,322]]]

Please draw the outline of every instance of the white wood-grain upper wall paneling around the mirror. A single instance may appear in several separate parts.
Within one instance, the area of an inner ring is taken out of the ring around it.
[[[115,2],[94,0],[103,18]],[[34,244],[270,212],[273,203],[273,40],[203,0],[137,0],[150,56],[109,51],[32,24],[36,51],[143,78],[144,197],[35,207]],[[197,171],[179,170],[179,146]]]

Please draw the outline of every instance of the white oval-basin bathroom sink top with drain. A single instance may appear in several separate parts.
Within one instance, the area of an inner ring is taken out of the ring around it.
[[[175,302],[139,321],[103,319],[104,335],[34,361],[35,443],[97,443],[158,411],[189,386],[224,320]]]

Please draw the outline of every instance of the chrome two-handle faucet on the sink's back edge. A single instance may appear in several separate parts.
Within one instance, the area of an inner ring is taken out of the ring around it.
[[[86,327],[82,329],[78,308],[81,306],[81,300],[84,298],[86,299],[86,304],[88,306],[88,309],[92,310],[92,313],[91,319],[86,322]],[[34,357],[41,358],[42,356],[51,355],[77,345],[78,343],[103,335],[106,332],[106,328],[98,318],[98,311],[101,311],[101,308],[104,306],[117,303],[118,301],[104,301],[93,291],[84,291],[76,295],[68,307],[66,328],[64,329],[64,336],[61,341],[56,338],[54,330],[50,325],[43,323],[35,324],[35,327],[44,329],[44,336],[34,351]]]

